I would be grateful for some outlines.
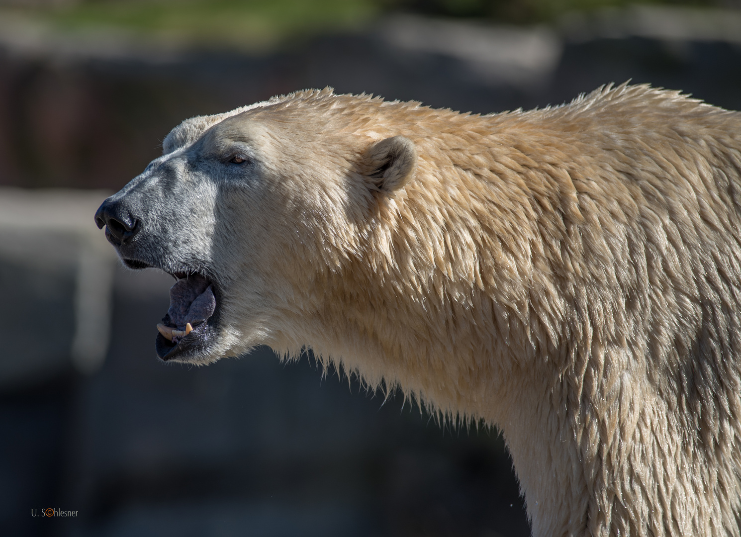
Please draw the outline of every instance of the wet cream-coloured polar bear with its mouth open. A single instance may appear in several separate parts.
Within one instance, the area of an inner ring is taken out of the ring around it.
[[[496,425],[535,536],[740,535],[741,113],[301,91],[184,121],[96,222],[178,280],[162,360],[308,346]]]

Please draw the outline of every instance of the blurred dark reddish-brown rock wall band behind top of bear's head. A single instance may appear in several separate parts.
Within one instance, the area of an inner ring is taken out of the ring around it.
[[[58,59],[0,50],[0,184],[118,189],[179,121],[279,93],[335,87],[491,113],[570,101],[601,84],[649,82],[741,108],[741,51],[722,41],[566,42],[536,84],[487,81],[460,59],[381,36],[330,36],[270,56],[179,61]]]

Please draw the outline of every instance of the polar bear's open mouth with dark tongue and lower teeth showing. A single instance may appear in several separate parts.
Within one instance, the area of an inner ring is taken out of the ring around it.
[[[144,268],[142,261],[124,259],[131,268]],[[216,286],[201,273],[170,273],[176,278],[170,287],[170,307],[157,324],[155,347],[163,360],[194,358],[216,337],[219,295]]]

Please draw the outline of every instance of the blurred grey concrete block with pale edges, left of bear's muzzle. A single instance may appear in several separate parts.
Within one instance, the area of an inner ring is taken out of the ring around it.
[[[102,366],[116,255],[93,214],[107,195],[0,188],[0,386]]]

